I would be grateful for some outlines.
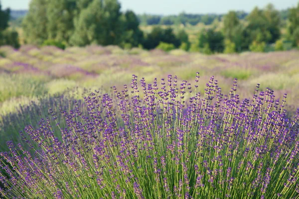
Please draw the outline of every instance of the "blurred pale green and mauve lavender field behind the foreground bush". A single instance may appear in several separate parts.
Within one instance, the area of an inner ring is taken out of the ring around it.
[[[213,75],[228,92],[234,78],[239,80],[242,98],[253,94],[255,85],[269,87],[278,98],[288,95],[288,104],[299,98],[299,51],[203,55],[173,50],[169,53],[139,48],[123,50],[117,46],[72,47],[22,46],[19,50],[0,47],[0,110],[8,113],[14,105],[26,103],[43,93],[61,94],[67,88],[103,87],[131,82],[133,74],[147,80],[169,73],[179,80],[193,81],[200,73],[199,89]]]

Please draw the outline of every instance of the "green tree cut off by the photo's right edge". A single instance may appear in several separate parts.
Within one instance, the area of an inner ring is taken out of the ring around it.
[[[299,46],[299,3],[297,7],[293,7],[289,12],[288,34],[293,42],[293,46]]]

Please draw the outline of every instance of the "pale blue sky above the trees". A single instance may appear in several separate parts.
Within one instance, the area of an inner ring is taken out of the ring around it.
[[[0,0],[2,7],[28,9],[30,0]],[[250,12],[255,6],[273,3],[277,9],[296,6],[299,0],[119,0],[122,10],[131,9],[138,14],[226,13],[229,10]]]

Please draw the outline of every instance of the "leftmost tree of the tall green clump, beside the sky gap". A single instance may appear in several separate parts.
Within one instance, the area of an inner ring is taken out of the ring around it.
[[[26,43],[40,45],[48,38],[48,0],[31,0],[22,26]]]

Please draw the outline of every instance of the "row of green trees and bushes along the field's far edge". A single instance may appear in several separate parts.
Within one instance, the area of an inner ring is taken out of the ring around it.
[[[17,32],[8,28],[10,10],[0,6],[0,45],[18,47]],[[284,22],[287,18],[288,23]],[[219,28],[212,21],[221,20]],[[144,24],[211,24],[201,30],[196,42],[190,42],[184,28],[176,34],[173,29],[155,25],[149,33],[140,29]],[[282,36],[281,26],[287,27]],[[275,43],[276,50],[284,50],[283,39],[292,46],[299,45],[299,4],[289,10],[278,11],[272,4],[249,14],[229,11],[225,15],[186,14],[160,17],[136,15],[121,11],[118,0],[31,0],[22,20],[25,43],[66,46],[119,45],[123,48],[143,47],[211,54],[242,51],[265,51]]]

